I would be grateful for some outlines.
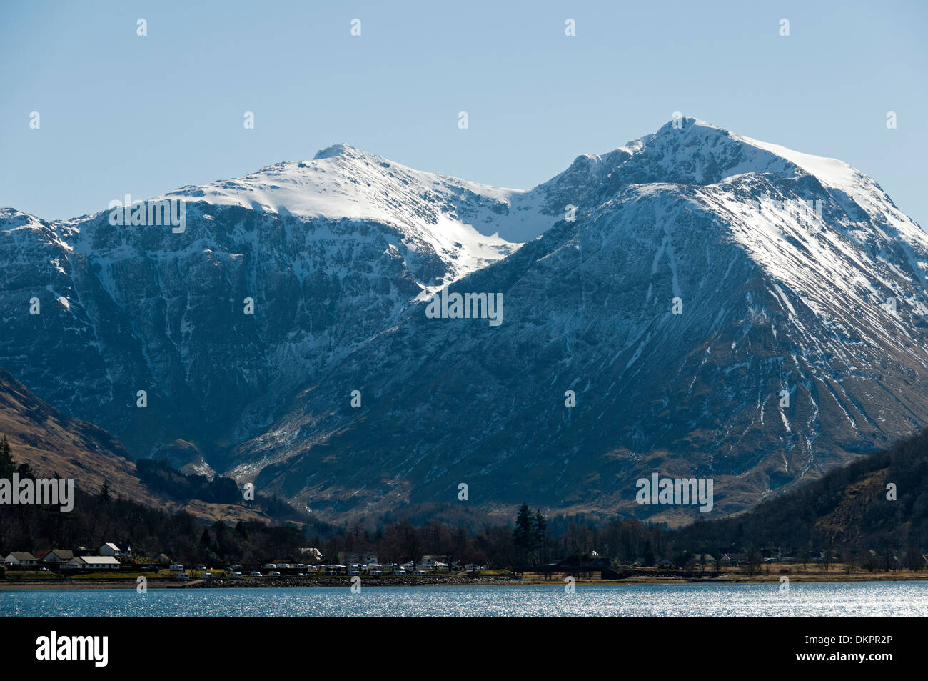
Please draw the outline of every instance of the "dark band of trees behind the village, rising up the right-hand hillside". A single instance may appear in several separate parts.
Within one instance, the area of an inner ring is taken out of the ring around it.
[[[141,463],[141,462],[139,462]],[[163,463],[142,464],[149,479],[185,480],[189,490],[213,493],[204,477],[183,476]],[[0,441],[0,470],[20,470]],[[178,478],[180,476],[180,478]],[[192,480],[190,478],[193,478]],[[202,479],[200,479],[202,478]],[[223,496],[220,482],[213,499]],[[318,547],[327,561],[354,553],[377,553],[381,563],[445,556],[462,564],[526,570],[577,557],[619,563],[658,564],[667,558],[684,567],[693,555],[743,553],[752,564],[763,556],[794,556],[823,551],[875,570],[923,566],[928,546],[928,431],[855,464],[834,470],[738,517],[697,521],[680,529],[638,519],[545,517],[522,504],[511,523],[492,523],[470,511],[434,507],[415,517],[367,520],[335,528],[279,499],[259,502],[283,525],[218,522],[204,527],[196,518],[110,497],[75,491],[71,513],[41,506],[0,506],[0,551],[99,546],[130,541],[148,557],[166,553],[182,562],[304,562],[297,549]],[[191,497],[202,498],[202,497]],[[238,489],[236,500],[241,503]],[[251,505],[251,504],[249,504]],[[459,508],[458,504],[458,508]],[[457,514],[446,516],[445,514]],[[431,516],[431,518],[430,518]],[[761,553],[764,549],[765,553]],[[342,558],[342,562],[344,559]]]

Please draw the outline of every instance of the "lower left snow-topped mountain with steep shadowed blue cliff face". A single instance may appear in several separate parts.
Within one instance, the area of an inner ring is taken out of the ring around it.
[[[419,295],[555,219],[548,190],[421,173],[341,144],[161,199],[185,202],[184,229],[113,225],[110,210],[49,222],[0,209],[0,365],[136,455],[181,439],[213,458],[261,432],[283,396]]]

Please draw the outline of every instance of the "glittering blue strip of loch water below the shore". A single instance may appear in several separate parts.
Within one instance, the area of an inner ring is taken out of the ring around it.
[[[928,583],[579,584],[0,592],[6,616],[928,616]]]

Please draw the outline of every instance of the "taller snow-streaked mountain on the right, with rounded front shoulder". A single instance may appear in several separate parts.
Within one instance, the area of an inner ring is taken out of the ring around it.
[[[928,423],[928,237],[869,177],[691,119],[566,175],[574,222],[451,287],[501,292],[499,327],[411,309],[234,470],[322,514],[463,482],[673,520],[638,478],[711,477],[739,510]]]

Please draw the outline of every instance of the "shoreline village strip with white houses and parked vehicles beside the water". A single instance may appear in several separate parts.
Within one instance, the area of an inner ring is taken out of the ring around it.
[[[2,554],[0,554],[2,555]],[[928,557],[922,557],[928,563]],[[533,565],[522,570],[496,569],[490,565],[462,563],[448,556],[425,555],[399,562],[380,562],[375,552],[340,551],[327,560],[316,547],[297,549],[294,555],[275,557],[261,563],[184,565],[160,554],[153,559],[133,554],[128,542],[102,544],[96,552],[87,547],[11,552],[3,557],[0,584],[26,583],[125,583],[135,584],[145,577],[153,585],[183,586],[311,586],[338,585],[354,577],[374,583],[552,583],[573,578],[581,582],[665,582],[752,581],[773,582],[784,575],[797,581],[856,581],[863,579],[904,579],[903,565],[896,556],[869,552],[864,565],[839,561],[826,551],[805,551],[798,557],[778,551],[719,551],[685,554],[660,560],[638,558],[615,561],[590,551],[583,556],[565,557],[555,562]],[[921,570],[919,570],[921,571]],[[918,572],[911,579],[919,578]]]

